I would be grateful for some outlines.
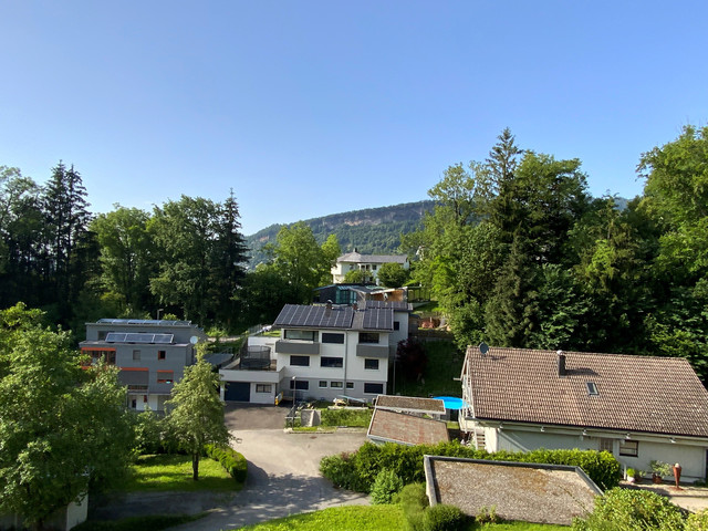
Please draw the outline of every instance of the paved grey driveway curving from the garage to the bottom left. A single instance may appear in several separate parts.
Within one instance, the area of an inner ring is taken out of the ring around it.
[[[174,531],[218,531],[343,504],[368,503],[366,496],[337,490],[319,473],[324,456],[352,451],[365,434],[285,434],[282,407],[227,406],[226,423],[248,459],[248,479],[238,493],[129,494],[93,518],[162,513],[209,516]],[[248,429],[246,429],[248,428]]]

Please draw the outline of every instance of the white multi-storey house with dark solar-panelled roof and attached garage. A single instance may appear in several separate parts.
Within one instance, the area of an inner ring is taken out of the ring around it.
[[[219,371],[227,400],[273,404],[350,397],[372,402],[386,393],[388,363],[408,337],[407,303],[287,304],[280,337],[249,337],[246,352]]]

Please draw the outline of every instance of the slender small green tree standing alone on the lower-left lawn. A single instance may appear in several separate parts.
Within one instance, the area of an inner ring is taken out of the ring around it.
[[[171,398],[165,403],[169,429],[179,448],[191,456],[192,479],[199,479],[199,458],[205,445],[228,445],[229,431],[223,424],[223,404],[219,398],[219,375],[204,361],[204,344],[198,361],[185,368],[175,384]]]

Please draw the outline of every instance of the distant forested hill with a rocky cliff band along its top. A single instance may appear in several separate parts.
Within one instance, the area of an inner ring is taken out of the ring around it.
[[[355,247],[364,254],[389,254],[398,252],[400,233],[418,228],[423,215],[433,210],[434,201],[406,202],[391,207],[366,208],[350,212],[332,214],[321,218],[306,219],[304,222],[320,243],[334,233],[340,240],[342,252]],[[250,249],[250,267],[266,260],[262,247],[274,242],[282,225],[271,225],[246,238]]]

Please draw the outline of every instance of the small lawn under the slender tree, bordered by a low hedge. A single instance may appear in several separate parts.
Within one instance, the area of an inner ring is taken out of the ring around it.
[[[240,490],[239,483],[214,459],[199,460],[199,480],[191,479],[191,457],[160,454],[140,456],[132,467],[132,476],[124,486],[127,492],[155,490]]]

